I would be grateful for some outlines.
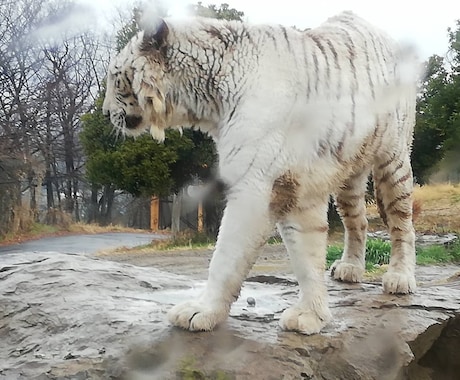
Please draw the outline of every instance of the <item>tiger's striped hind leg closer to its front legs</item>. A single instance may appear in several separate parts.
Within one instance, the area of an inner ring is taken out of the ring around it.
[[[336,196],[337,210],[345,228],[342,258],[331,266],[331,276],[345,282],[361,282],[366,253],[366,189],[368,171],[350,177]]]

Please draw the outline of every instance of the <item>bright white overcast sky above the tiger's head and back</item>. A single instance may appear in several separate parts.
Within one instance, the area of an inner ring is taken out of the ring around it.
[[[129,7],[132,0],[80,0],[96,8],[107,17],[115,7]],[[172,16],[183,16],[190,0],[165,0]],[[202,1],[203,4],[228,3],[243,11],[251,23],[275,23],[298,28],[311,28],[343,10],[359,16],[387,31],[395,39],[414,43],[422,58],[432,54],[444,56],[447,47],[447,28],[460,19],[460,0],[222,0]]]

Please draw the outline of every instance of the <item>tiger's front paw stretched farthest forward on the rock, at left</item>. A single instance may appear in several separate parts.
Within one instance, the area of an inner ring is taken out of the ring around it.
[[[189,331],[211,331],[225,321],[229,309],[225,305],[213,305],[202,301],[188,301],[174,306],[168,319],[174,326]]]

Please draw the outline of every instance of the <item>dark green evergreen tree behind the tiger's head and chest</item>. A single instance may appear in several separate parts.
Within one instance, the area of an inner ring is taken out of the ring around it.
[[[201,3],[192,6],[195,14],[205,17],[239,20],[243,12]],[[129,22],[117,33],[116,47],[120,51],[139,31],[141,12],[135,8]],[[92,210],[89,221],[110,222],[111,205],[115,190],[134,196],[165,196],[177,193],[185,184],[196,179],[207,179],[217,161],[212,139],[199,131],[187,129],[183,135],[167,130],[164,144],[158,144],[149,135],[137,139],[117,136],[110,122],[102,115],[104,95],[97,99],[92,112],[82,117],[80,135],[87,155],[86,175],[93,187]],[[98,194],[102,194],[98,198]],[[212,203],[218,212],[207,221],[217,231],[222,202]]]

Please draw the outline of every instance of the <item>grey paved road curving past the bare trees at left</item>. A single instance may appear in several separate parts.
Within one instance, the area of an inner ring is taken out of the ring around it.
[[[153,233],[109,232],[103,234],[54,236],[24,243],[0,247],[0,259],[8,254],[25,252],[60,252],[94,254],[102,249],[135,247],[152,240],[164,239],[165,235]]]

